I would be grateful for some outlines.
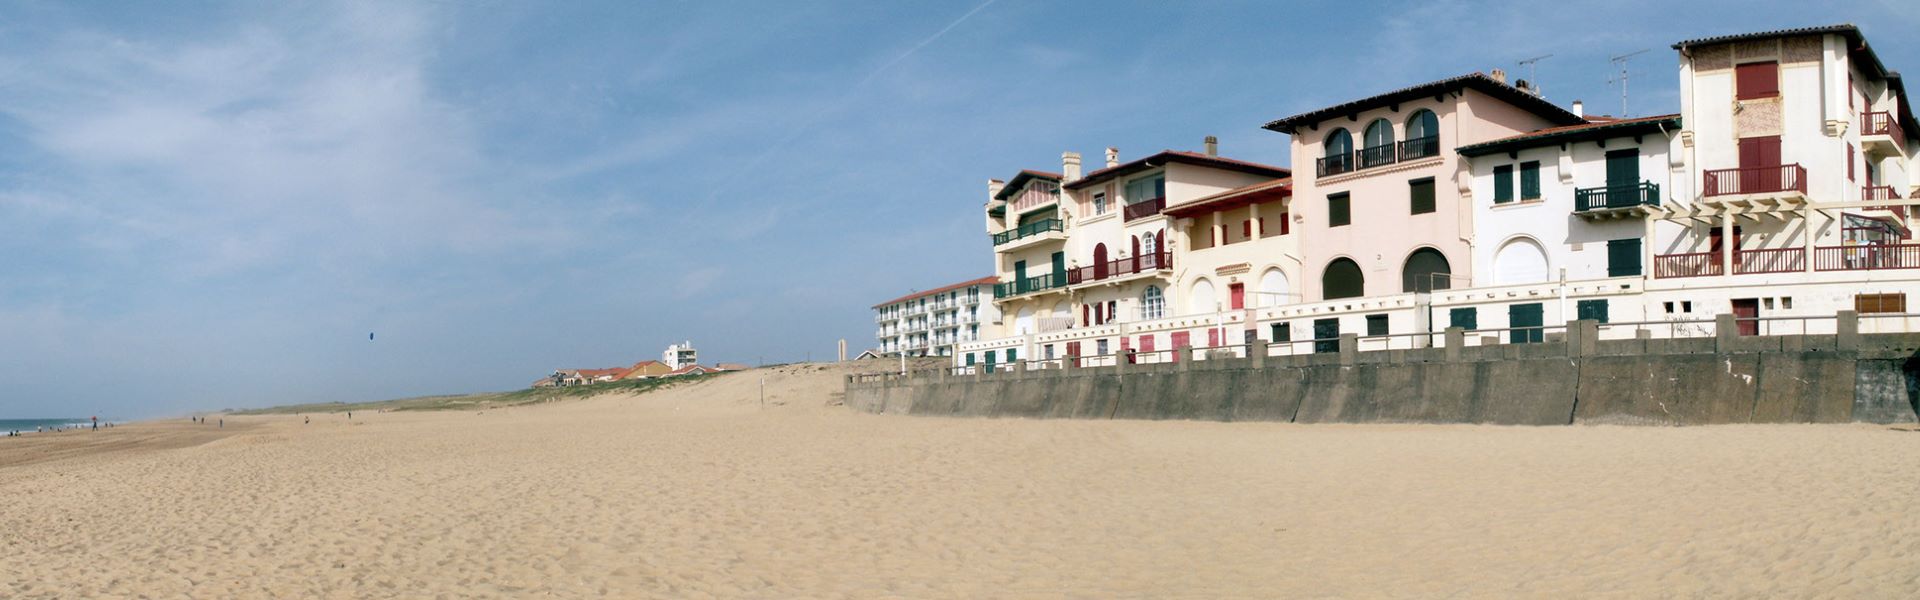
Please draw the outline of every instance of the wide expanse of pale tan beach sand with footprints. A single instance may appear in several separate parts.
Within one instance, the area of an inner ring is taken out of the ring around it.
[[[1920,594],[1914,427],[937,419],[837,388],[0,438],[0,596]]]

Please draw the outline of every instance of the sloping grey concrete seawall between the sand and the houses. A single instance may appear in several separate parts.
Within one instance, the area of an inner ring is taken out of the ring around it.
[[[1586,331],[1588,335],[1580,335]],[[1292,423],[1914,423],[1920,335],[1596,340],[854,375],[874,413]]]

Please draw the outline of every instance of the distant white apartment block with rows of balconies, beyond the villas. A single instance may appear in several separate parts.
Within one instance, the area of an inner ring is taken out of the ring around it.
[[[993,277],[912,292],[874,306],[874,338],[881,354],[952,356],[954,344],[977,340],[983,323],[1000,313],[993,302]]]

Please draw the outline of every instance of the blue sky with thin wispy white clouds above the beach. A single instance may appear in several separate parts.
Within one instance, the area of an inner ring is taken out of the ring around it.
[[[1920,2],[0,2],[0,417],[518,388],[874,344],[993,273],[987,179],[1534,56],[1678,112],[1682,38]],[[372,335],[372,338],[369,338]]]

